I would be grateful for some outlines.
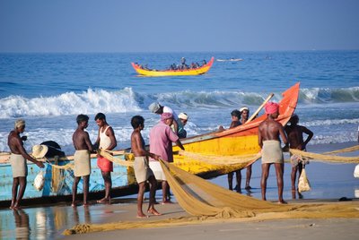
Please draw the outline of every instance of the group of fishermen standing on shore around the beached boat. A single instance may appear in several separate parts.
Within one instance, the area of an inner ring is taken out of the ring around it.
[[[154,102],[149,106],[149,109],[157,115],[160,115],[161,121],[154,125],[150,131],[150,148],[146,148],[144,138],[141,131],[144,129],[144,117],[133,116],[131,125],[134,129],[131,134],[131,150],[135,155],[134,169],[136,181],[139,184],[139,192],[137,196],[137,217],[147,217],[143,210],[143,199],[145,184],[150,184],[150,201],[147,212],[153,215],[160,215],[154,209],[155,191],[157,189],[157,181],[162,182],[162,203],[171,203],[169,184],[163,174],[160,159],[167,162],[173,161],[172,142],[176,143],[180,149],[184,147],[180,138],[187,137],[187,132],[184,130],[185,124],[188,121],[188,115],[181,113],[179,116],[171,109]],[[261,175],[261,192],[262,200],[266,201],[267,177],[269,174],[269,167],[274,164],[276,167],[276,178],[278,184],[278,202],[285,203],[283,200],[283,173],[284,173],[284,159],[283,150],[281,148],[281,141],[285,143],[286,147],[292,149],[305,150],[306,144],[311,140],[313,133],[304,126],[298,125],[299,118],[294,115],[290,119],[290,125],[283,126],[276,122],[279,116],[279,106],[274,102],[268,102],[265,106],[267,119],[258,126],[258,145],[262,149],[262,175]],[[248,107],[242,107],[240,110],[232,111],[232,127],[244,124],[248,121],[250,114]],[[73,134],[74,143],[74,184],[73,184],[73,201],[72,206],[75,207],[77,185],[81,178],[83,178],[83,206],[88,206],[89,193],[89,179],[91,174],[90,153],[97,150],[113,150],[117,146],[115,133],[112,127],[107,123],[106,116],[98,113],[94,118],[96,124],[99,126],[98,138],[92,145],[89,133],[85,131],[89,124],[89,116],[79,115],[76,117],[77,129]],[[25,129],[25,121],[20,119],[15,121],[14,130],[9,133],[8,145],[11,150],[10,162],[13,169],[13,189],[12,202],[10,209],[20,208],[22,196],[26,188],[27,165],[26,159],[30,160],[38,167],[45,167],[43,162],[37,158],[43,158],[48,149],[53,149],[53,146],[48,144],[41,154],[35,154],[38,150],[33,149],[33,155],[29,155],[23,148],[23,142],[26,141],[25,136],[20,136]],[[303,133],[308,134],[308,137],[303,141]],[[40,146],[46,146],[42,144]],[[34,146],[35,147],[35,146]],[[37,145],[39,147],[39,145]],[[55,146],[56,147],[56,146]],[[59,147],[59,146],[58,146]],[[291,158],[292,159],[292,158]],[[112,186],[110,172],[113,171],[113,163],[109,159],[103,158],[98,154],[97,165],[101,169],[101,174],[105,185],[105,196],[99,200],[100,203],[110,203],[110,190]],[[292,169],[292,191],[295,192],[296,173],[302,171],[302,162],[297,161],[293,163]],[[238,174],[239,172],[239,174]],[[241,192],[241,170],[236,171],[237,174],[237,192]],[[228,175],[229,188],[232,190],[232,176]],[[247,168],[247,180],[245,189],[250,189],[251,166]],[[20,189],[19,189],[20,187]]]

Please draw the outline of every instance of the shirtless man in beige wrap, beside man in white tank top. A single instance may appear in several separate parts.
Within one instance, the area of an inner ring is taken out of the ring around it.
[[[73,203],[71,206],[75,207],[77,184],[81,177],[83,177],[83,207],[87,207],[89,202],[87,196],[89,194],[90,173],[91,173],[91,159],[90,152],[92,151],[92,143],[90,141],[89,133],[84,130],[89,125],[89,116],[79,115],[76,117],[77,129],[73,134],[74,143],[74,184],[73,184]]]

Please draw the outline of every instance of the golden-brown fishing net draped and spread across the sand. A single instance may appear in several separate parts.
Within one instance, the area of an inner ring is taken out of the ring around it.
[[[161,165],[180,206],[192,216],[157,221],[79,224],[66,229],[63,234],[73,235],[140,227],[174,227],[223,222],[224,220],[359,218],[359,203],[356,201],[279,205],[233,193],[171,164],[161,161]]]

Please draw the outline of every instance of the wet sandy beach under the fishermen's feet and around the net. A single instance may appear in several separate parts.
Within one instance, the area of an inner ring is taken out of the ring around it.
[[[309,151],[324,152],[338,150],[355,145],[355,142],[346,144],[330,144],[309,146]],[[355,153],[346,153],[353,155]],[[359,183],[353,176],[355,164],[328,164],[311,162],[308,166],[308,176],[311,180],[310,192],[302,193],[302,198],[292,198],[290,191],[290,165],[285,164],[285,201],[288,205],[295,204],[336,204],[337,208],[343,204],[353,204],[359,209]],[[243,194],[260,199],[260,161],[253,166],[253,174],[250,193]],[[215,184],[227,187],[226,176],[211,179]],[[148,193],[145,194],[148,198]],[[157,201],[161,201],[161,191],[157,191]],[[268,201],[276,202],[277,188],[274,168],[270,171],[267,185]],[[349,201],[339,201],[346,198]],[[176,202],[175,196],[173,201]],[[147,208],[148,199],[144,201],[144,210]],[[117,198],[112,204],[97,204],[91,202],[88,208],[78,206],[72,208],[69,203],[63,202],[57,205],[26,207],[23,210],[0,210],[2,239],[16,237],[30,237],[34,239],[118,239],[124,236],[127,239],[238,239],[238,237],[250,237],[250,239],[277,239],[289,237],[291,239],[354,239],[357,233],[359,218],[325,218],[317,219],[313,216],[287,219],[278,219],[277,216],[258,215],[253,218],[241,219],[203,219],[191,217],[178,203],[157,204],[156,209],[162,216],[151,216],[148,219],[136,218],[136,195]],[[172,219],[169,221],[168,219]],[[153,224],[153,222],[155,224]],[[158,225],[158,222],[160,224]],[[170,223],[169,223],[170,222]],[[129,223],[131,229],[92,232],[64,236],[66,229],[76,224],[106,225],[125,228]],[[164,223],[164,224],[163,224]],[[126,225],[126,226],[125,226]],[[157,225],[157,226],[155,226]]]

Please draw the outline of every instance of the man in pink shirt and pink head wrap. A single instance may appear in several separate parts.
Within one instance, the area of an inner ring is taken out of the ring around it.
[[[153,126],[150,131],[150,152],[161,157],[163,161],[173,162],[172,142],[175,142],[181,150],[185,150],[179,137],[173,133],[170,125],[173,122],[171,113],[162,113],[160,123]],[[159,161],[150,159],[150,167],[157,181],[162,181],[162,203],[171,203],[168,200],[169,185],[162,171]]]

